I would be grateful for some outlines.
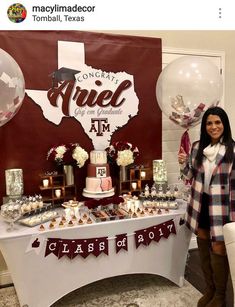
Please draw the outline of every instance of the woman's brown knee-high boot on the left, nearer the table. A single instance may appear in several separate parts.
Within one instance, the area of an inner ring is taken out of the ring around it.
[[[197,303],[197,307],[205,307],[213,298],[215,293],[215,285],[213,281],[213,271],[211,267],[211,242],[209,239],[200,239],[197,237],[197,245],[200,256],[201,268],[206,281],[206,290],[204,295]]]

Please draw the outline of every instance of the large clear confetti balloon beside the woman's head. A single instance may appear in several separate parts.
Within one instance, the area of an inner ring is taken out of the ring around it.
[[[218,105],[222,93],[219,69],[199,56],[183,56],[168,64],[156,85],[162,112],[184,128],[200,123],[206,109]]]

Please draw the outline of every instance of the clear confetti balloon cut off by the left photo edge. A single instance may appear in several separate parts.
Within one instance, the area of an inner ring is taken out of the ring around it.
[[[0,127],[19,111],[24,94],[25,81],[19,65],[0,49]]]

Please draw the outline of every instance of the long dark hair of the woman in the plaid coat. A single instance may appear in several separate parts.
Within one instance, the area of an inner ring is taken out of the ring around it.
[[[202,165],[202,159],[203,159],[203,149],[207,147],[211,143],[211,137],[206,132],[206,121],[209,115],[217,115],[222,121],[222,124],[224,126],[224,132],[222,134],[222,144],[226,147],[225,152],[225,161],[226,162],[232,162],[233,161],[233,146],[234,141],[232,138],[230,123],[228,119],[227,113],[220,107],[211,107],[206,110],[202,117],[201,122],[201,132],[200,132],[200,140],[199,140],[199,148],[196,155],[196,164],[197,166]]]

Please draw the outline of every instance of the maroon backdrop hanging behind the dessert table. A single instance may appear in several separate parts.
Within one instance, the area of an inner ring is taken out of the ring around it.
[[[80,31],[0,32],[0,48],[20,65],[27,89],[50,88],[51,77],[48,75],[58,67],[58,40],[84,42],[87,65],[134,75],[139,113],[115,132],[111,141],[134,143],[140,150],[136,163],[152,167],[152,160],[161,158],[161,111],[155,95],[162,67],[161,39]],[[0,199],[6,193],[5,169],[22,168],[24,194],[39,193],[39,174],[55,169],[55,165],[46,160],[51,146],[78,142],[88,152],[93,149],[79,122],[74,118],[63,118],[60,125],[54,125],[44,118],[41,108],[27,95],[17,115],[0,127],[0,142]],[[86,165],[76,169],[79,199],[85,176]]]

